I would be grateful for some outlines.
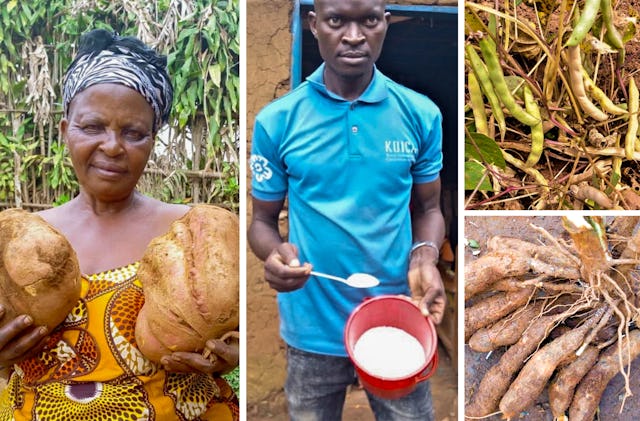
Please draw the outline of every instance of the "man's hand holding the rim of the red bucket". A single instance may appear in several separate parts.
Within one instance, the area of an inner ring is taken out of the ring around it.
[[[435,324],[440,324],[446,296],[440,271],[428,250],[418,249],[412,254],[408,278],[413,301],[425,316],[429,315]]]

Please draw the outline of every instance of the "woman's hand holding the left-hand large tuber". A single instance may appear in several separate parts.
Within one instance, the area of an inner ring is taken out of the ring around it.
[[[33,319],[20,315],[5,320],[5,309],[0,305],[0,368],[7,368],[35,354],[44,347],[47,328],[33,326]]]

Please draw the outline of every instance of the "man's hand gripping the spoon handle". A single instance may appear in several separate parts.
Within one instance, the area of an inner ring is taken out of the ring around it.
[[[264,261],[265,279],[278,292],[302,288],[310,273],[311,265],[300,265],[298,248],[291,243],[280,244]]]

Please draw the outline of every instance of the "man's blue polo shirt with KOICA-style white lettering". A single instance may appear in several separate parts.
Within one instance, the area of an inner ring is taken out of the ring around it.
[[[365,297],[409,294],[409,200],[413,183],[442,168],[442,117],[426,96],[377,69],[347,101],[323,83],[324,64],[256,117],[252,194],[289,200],[289,239],[300,261],[341,277],[364,272],[380,285],[357,289],[311,277],[278,294],[280,333],[291,346],[346,356],[343,331]]]

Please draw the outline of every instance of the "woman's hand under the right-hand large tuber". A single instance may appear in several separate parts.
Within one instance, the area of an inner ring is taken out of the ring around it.
[[[225,338],[226,337],[226,338]],[[160,361],[167,371],[226,374],[238,366],[240,359],[239,333],[234,331],[220,339],[210,339],[203,354],[174,352]]]

